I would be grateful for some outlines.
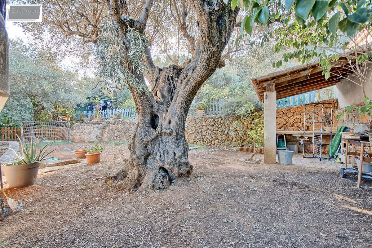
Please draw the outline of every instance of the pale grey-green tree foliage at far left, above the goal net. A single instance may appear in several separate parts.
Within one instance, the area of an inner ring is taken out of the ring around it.
[[[55,104],[74,108],[84,102],[85,90],[77,84],[77,73],[46,63],[42,49],[20,40],[10,40],[9,44],[10,97],[1,112],[2,125],[35,121]]]

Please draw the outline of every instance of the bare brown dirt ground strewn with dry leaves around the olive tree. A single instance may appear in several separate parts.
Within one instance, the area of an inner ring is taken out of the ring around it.
[[[89,146],[91,146],[90,144]],[[85,144],[54,145],[72,158]],[[66,151],[63,148],[69,148]],[[128,157],[109,144],[102,162],[39,175],[7,189],[24,210],[0,214],[0,247],[370,247],[372,183],[339,171],[248,164],[249,154],[192,150],[194,173],[167,190],[124,192],[104,183]],[[260,157],[259,155],[257,157]]]

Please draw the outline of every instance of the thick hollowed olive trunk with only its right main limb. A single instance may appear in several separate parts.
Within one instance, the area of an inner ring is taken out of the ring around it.
[[[155,67],[148,49],[149,70],[144,76],[151,93],[130,87],[138,124],[128,145],[130,157],[113,177],[125,189],[164,189],[192,173],[185,139],[187,112],[196,92],[216,70],[238,13],[222,0],[194,0],[193,6],[200,36],[189,64]]]

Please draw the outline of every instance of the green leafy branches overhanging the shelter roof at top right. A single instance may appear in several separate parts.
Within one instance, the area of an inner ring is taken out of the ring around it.
[[[249,41],[253,39],[249,35],[255,25],[273,26],[274,32],[262,36],[260,42],[264,44],[274,39],[276,52],[283,48],[292,50],[284,52],[283,58],[274,62],[273,67],[280,67],[291,59],[302,64],[317,59],[325,79],[333,74],[344,77],[331,70],[331,61],[338,61],[333,66],[354,74],[356,80],[347,78],[362,87],[366,97],[363,83],[372,63],[371,1],[232,1],[232,9],[236,6],[241,6],[245,15],[241,32]]]

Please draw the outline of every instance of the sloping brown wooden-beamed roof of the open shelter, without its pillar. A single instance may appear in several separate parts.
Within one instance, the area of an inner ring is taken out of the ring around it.
[[[345,60],[333,61],[331,66],[331,75],[327,80],[320,65],[312,62],[252,78],[253,89],[261,102],[266,91],[276,91],[276,99],[282,99],[336,85],[353,73],[350,63]]]

